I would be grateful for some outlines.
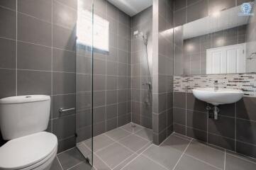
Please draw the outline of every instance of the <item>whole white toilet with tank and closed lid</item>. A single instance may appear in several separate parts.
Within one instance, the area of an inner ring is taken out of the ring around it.
[[[48,170],[57,154],[57,137],[48,128],[50,96],[0,99],[0,128],[6,144],[0,147],[2,170]]]

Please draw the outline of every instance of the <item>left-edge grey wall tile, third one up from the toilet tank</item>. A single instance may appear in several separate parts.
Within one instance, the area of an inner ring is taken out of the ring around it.
[[[0,7],[0,25],[1,37],[16,39],[16,12]]]

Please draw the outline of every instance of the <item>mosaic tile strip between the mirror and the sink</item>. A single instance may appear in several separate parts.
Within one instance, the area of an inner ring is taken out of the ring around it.
[[[241,89],[245,96],[256,97],[256,74],[209,74],[174,76],[174,91],[192,92],[199,87],[213,87],[218,80],[220,88]]]

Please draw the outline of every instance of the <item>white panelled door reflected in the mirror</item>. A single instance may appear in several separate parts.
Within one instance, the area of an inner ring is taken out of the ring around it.
[[[206,51],[206,74],[245,72],[246,44],[210,48]]]

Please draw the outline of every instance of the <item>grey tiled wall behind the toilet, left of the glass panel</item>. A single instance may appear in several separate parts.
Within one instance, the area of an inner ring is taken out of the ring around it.
[[[0,98],[50,95],[48,131],[57,135],[59,152],[73,147],[75,112],[58,109],[75,107],[77,2],[3,0],[0,18]]]

